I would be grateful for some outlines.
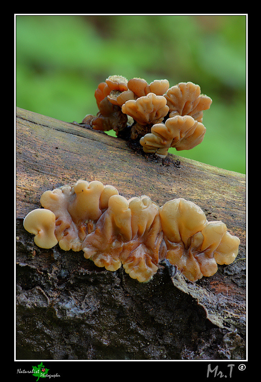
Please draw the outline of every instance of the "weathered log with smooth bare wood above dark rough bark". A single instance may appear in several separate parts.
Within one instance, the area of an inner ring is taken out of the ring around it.
[[[245,359],[245,176],[17,109],[17,359]],[[198,204],[240,238],[232,265],[192,283],[159,271],[148,283],[83,252],[41,249],[23,228],[46,190],[78,179],[159,206]]]

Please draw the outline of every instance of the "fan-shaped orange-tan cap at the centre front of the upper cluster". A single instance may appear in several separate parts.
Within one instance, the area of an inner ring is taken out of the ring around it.
[[[166,103],[165,97],[148,93],[146,96],[137,98],[137,100],[126,101],[121,110],[140,125],[148,125],[163,121],[169,111]]]

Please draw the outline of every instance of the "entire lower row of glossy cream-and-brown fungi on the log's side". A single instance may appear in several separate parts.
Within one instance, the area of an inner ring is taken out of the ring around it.
[[[145,282],[168,259],[189,280],[231,264],[239,239],[222,221],[207,221],[203,210],[183,198],[158,207],[149,197],[126,199],[115,187],[79,180],[73,187],[45,191],[43,208],[31,211],[24,227],[35,244],[63,250],[83,250],[98,267]]]

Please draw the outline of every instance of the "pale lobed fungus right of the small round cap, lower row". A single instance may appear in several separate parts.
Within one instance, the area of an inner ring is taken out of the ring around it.
[[[55,235],[64,250],[80,251],[86,235],[108,208],[109,198],[118,191],[101,182],[79,180],[73,187],[45,191],[41,205],[56,216]]]

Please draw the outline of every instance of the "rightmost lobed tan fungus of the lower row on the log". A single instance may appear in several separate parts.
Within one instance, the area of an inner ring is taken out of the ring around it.
[[[174,199],[165,203],[159,213],[166,258],[190,281],[212,276],[217,272],[217,263],[230,264],[235,259],[239,239],[227,232],[222,221],[208,222],[193,202]]]

